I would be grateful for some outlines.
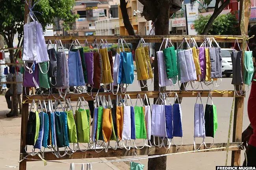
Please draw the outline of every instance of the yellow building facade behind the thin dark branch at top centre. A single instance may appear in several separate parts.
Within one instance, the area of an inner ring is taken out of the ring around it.
[[[141,17],[140,11],[143,11],[143,5],[138,0],[128,0],[126,5],[127,12],[130,18],[130,22],[134,27],[134,32],[136,35],[148,35],[148,22],[144,17]],[[124,22],[122,19],[122,13],[119,4],[119,27],[120,35],[128,35],[127,30],[124,27]]]

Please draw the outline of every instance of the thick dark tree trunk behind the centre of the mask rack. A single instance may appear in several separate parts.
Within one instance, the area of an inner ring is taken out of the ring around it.
[[[160,4],[161,10],[158,18],[155,21],[155,35],[169,34],[169,5]],[[166,15],[168,14],[168,15]],[[155,60],[154,60],[154,90],[159,90],[159,76],[158,76],[158,57],[156,51],[160,49],[161,43],[155,44]],[[156,102],[156,98],[154,98]],[[153,136],[151,136],[153,139]],[[148,170],[166,170],[167,156],[148,159]]]

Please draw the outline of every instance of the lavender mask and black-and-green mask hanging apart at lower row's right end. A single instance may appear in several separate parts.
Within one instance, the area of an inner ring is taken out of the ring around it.
[[[202,104],[202,99],[200,93],[197,94],[197,99],[200,97],[200,104],[195,104],[195,115],[194,115],[194,148],[198,150],[202,144],[206,148],[211,148],[213,144],[208,147],[205,143],[205,137],[212,137],[214,143],[214,136],[217,131],[218,122],[217,122],[217,110],[216,106],[213,104],[211,99],[211,93],[208,94],[208,99],[206,102],[205,112],[204,106]],[[211,99],[211,104],[208,104],[208,100]],[[202,138],[202,143],[198,148],[196,148],[195,139]]]

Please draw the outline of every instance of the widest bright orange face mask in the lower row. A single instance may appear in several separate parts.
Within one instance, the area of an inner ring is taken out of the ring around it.
[[[110,109],[103,109],[102,115],[102,134],[104,142],[110,141],[112,134],[112,116]]]

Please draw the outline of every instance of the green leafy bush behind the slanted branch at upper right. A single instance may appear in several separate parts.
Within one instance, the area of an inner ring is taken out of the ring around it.
[[[195,20],[194,26],[198,34],[202,34],[210,17],[211,15],[199,15],[197,20]],[[217,18],[213,21],[213,25],[208,35],[237,35],[237,33],[238,21],[236,19],[236,15],[228,13],[217,16]]]

